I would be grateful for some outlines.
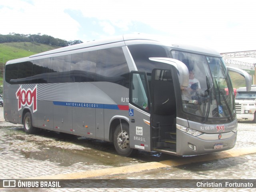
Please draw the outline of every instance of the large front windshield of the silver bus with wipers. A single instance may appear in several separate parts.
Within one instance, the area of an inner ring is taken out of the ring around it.
[[[189,70],[188,87],[181,87],[184,112],[192,114],[191,118],[201,116],[204,122],[209,118],[233,120],[233,89],[222,58],[177,50],[172,50],[171,54]]]

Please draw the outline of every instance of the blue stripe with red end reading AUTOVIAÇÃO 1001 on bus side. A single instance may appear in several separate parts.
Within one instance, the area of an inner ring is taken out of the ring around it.
[[[127,105],[110,105],[110,104],[97,104],[97,103],[79,103],[79,102],[53,101],[53,104],[54,105],[59,105],[59,106],[114,109],[114,110],[128,110],[129,109],[129,107]]]

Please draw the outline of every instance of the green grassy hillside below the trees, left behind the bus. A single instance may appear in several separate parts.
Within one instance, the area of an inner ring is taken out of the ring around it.
[[[31,42],[1,43],[0,44],[0,85],[3,84],[3,67],[7,61],[28,57],[37,53],[60,48],[46,44]]]

